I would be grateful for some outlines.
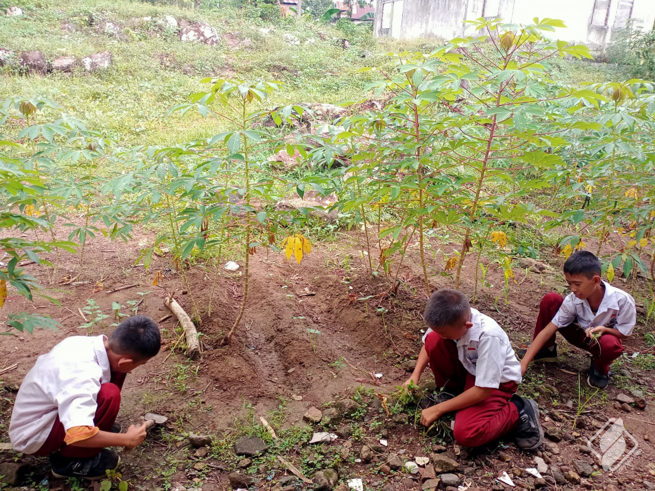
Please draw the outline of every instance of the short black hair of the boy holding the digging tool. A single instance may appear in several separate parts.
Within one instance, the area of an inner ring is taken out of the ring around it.
[[[152,358],[159,353],[159,325],[147,316],[132,316],[122,321],[109,336],[111,350],[119,355],[131,355],[135,361]]]

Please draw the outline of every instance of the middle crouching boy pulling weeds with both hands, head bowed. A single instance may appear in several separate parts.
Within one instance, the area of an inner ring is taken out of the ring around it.
[[[429,329],[405,386],[417,384],[429,363],[443,392],[421,401],[421,423],[430,426],[457,411],[453,434],[460,445],[485,445],[514,431],[519,448],[540,446],[539,409],[515,394],[521,367],[496,321],[471,308],[464,293],[449,288],[432,293],[423,318]]]

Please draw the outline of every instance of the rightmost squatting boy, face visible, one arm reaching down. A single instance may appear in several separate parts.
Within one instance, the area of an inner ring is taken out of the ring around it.
[[[591,354],[589,386],[604,389],[612,361],[623,352],[621,340],[632,334],[637,321],[635,300],[601,280],[601,262],[588,251],[578,251],[564,263],[571,293],[563,299],[548,293],[541,300],[534,340],[519,350],[521,373],[531,361],[557,361],[555,333]]]

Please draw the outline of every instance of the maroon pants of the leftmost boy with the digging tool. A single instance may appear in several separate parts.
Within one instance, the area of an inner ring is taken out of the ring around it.
[[[125,380],[124,373],[111,373],[111,381],[100,386],[96,402],[96,417],[94,423],[100,431],[110,431],[116,416],[119,414],[121,407],[121,388]],[[84,448],[81,446],[69,446],[64,443],[66,430],[59,420],[59,416],[54,420],[54,425],[50,430],[48,439],[41,445],[41,448],[35,452],[35,455],[47,456],[60,450],[62,456],[71,458],[93,457],[100,453],[102,448]]]

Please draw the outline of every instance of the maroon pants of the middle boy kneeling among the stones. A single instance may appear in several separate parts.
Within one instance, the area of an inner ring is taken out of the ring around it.
[[[466,371],[457,357],[455,341],[430,333],[425,339],[425,351],[437,387],[457,395],[476,384],[476,377]],[[455,441],[462,446],[480,446],[514,430],[519,411],[510,398],[517,387],[515,382],[505,382],[484,401],[458,410],[453,430]]]

